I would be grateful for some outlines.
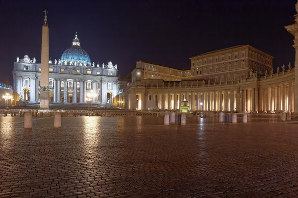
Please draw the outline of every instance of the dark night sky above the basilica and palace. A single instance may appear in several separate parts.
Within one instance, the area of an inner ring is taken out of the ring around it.
[[[0,82],[12,82],[13,61],[41,59],[43,10],[50,56],[60,59],[75,32],[92,62],[112,61],[119,74],[137,60],[176,68],[189,57],[237,45],[274,56],[274,68],[294,65],[296,0],[0,0]]]

